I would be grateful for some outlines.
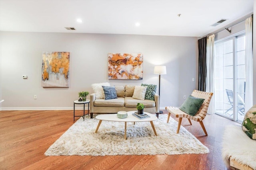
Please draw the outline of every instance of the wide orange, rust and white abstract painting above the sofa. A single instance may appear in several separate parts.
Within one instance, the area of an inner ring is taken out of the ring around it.
[[[141,80],[142,77],[142,54],[108,54],[108,79]]]

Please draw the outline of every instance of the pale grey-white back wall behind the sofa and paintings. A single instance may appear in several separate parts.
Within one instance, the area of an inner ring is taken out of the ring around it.
[[[0,42],[2,110],[72,109],[78,92],[91,94],[91,84],[99,82],[158,85],[155,65],[167,68],[167,74],[161,76],[161,109],[180,106],[183,96],[196,89],[192,82],[192,78],[198,79],[196,37],[1,31]],[[70,52],[69,88],[41,87],[43,51]],[[108,80],[108,53],[142,53],[143,80]]]

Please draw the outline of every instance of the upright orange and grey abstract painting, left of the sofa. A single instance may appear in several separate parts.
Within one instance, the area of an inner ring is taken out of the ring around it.
[[[42,53],[42,87],[69,86],[69,52]]]

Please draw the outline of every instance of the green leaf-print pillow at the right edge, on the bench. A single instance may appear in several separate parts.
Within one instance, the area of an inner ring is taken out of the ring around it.
[[[256,105],[252,106],[244,115],[242,129],[248,137],[256,140]]]

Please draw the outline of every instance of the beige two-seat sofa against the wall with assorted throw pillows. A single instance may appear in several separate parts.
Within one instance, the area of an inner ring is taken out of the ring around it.
[[[159,114],[159,95],[154,94],[154,100],[138,100],[132,98],[135,86],[115,86],[117,97],[116,99],[96,99],[96,94],[90,95],[90,115],[93,113],[117,113],[118,111],[133,111],[137,110],[136,105],[143,103],[144,111],[148,113]]]

